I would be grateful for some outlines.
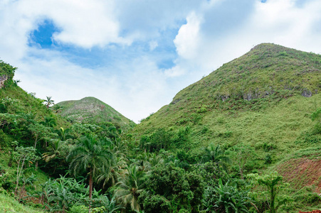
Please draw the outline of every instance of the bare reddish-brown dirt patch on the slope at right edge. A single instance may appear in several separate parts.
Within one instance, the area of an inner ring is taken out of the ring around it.
[[[285,182],[290,182],[297,189],[315,185],[315,192],[321,192],[321,160],[308,158],[291,159],[279,165],[278,173]],[[314,212],[313,212],[314,213]],[[321,213],[321,212],[320,212]]]

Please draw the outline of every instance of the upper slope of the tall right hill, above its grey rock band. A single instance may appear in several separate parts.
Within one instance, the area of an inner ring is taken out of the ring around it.
[[[172,104],[191,94],[194,87],[208,99],[223,101],[230,97],[251,100],[275,93],[310,97],[321,89],[320,70],[320,55],[263,43],[183,89]]]

